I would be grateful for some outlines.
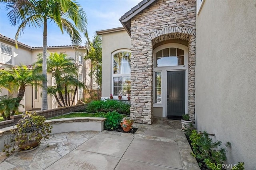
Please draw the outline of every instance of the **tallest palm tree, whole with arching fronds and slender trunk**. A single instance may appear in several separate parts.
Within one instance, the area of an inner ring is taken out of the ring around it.
[[[42,27],[43,26],[43,64],[42,73],[45,76],[42,91],[42,110],[48,109],[47,106],[47,24],[55,23],[62,33],[66,31],[73,45],[82,43],[80,32],[86,30],[86,14],[82,6],[72,0],[0,0],[6,2],[6,10],[10,10],[7,14],[10,23],[15,26],[21,21],[15,35],[16,47],[17,40],[26,26]],[[74,25],[70,22],[72,20]]]

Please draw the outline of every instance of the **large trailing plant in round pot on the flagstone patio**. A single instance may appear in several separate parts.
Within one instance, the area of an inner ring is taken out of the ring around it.
[[[37,147],[42,138],[49,139],[52,126],[49,123],[44,123],[45,120],[44,116],[37,115],[36,112],[23,113],[22,118],[16,123],[16,127],[14,126],[11,130],[12,134],[4,139],[3,152],[9,156],[10,152],[15,151],[15,144],[20,150],[28,150]],[[11,147],[12,150],[10,150]]]

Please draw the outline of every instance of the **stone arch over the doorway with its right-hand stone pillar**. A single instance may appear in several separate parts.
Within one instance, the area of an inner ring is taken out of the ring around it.
[[[188,41],[188,114],[195,121],[195,63],[196,63],[196,30],[188,27],[168,27],[150,33],[152,48],[157,43],[172,39]]]

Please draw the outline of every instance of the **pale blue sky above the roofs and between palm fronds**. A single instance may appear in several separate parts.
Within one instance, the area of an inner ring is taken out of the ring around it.
[[[118,20],[124,13],[136,6],[142,0],[76,0],[86,12],[88,24],[87,29],[90,39],[95,31],[121,27]],[[0,34],[14,39],[17,27],[12,27],[6,16],[7,12],[3,4],[0,5]],[[42,47],[42,28],[26,27],[18,41],[31,47]],[[83,43],[85,38],[82,35]],[[47,46],[71,45],[68,34],[60,32],[55,24],[48,25]]]

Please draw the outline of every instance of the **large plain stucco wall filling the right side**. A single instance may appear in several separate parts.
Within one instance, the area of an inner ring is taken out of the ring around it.
[[[256,163],[256,1],[206,0],[196,18],[196,125]]]

